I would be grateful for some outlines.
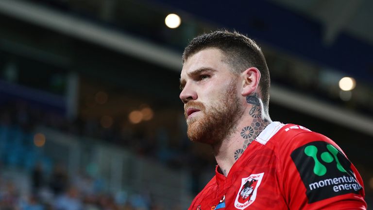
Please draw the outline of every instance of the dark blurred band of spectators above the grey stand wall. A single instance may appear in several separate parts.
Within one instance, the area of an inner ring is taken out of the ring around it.
[[[170,140],[168,131],[163,127],[152,132],[147,129],[132,129],[128,122],[123,123],[127,119],[114,120],[112,126],[103,127],[100,118],[68,119],[63,116],[62,111],[21,101],[0,104],[0,110],[0,124],[17,125],[25,133],[43,125],[78,137],[115,144],[136,155],[155,158],[173,168],[188,167],[191,164],[195,167],[195,159],[199,159],[191,152],[191,144],[186,136],[182,140]],[[199,163],[205,164],[201,160]]]

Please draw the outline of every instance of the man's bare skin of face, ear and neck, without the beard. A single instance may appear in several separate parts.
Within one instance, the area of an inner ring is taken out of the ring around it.
[[[181,71],[180,99],[184,103],[189,135],[189,129],[196,127],[193,126],[194,123],[201,123],[208,118],[204,111],[188,115],[188,110],[194,108],[196,103],[202,103],[206,110],[211,109],[227,97],[222,95],[227,94],[227,88],[235,86],[231,94],[236,94],[240,109],[236,116],[237,121],[233,122],[233,125],[232,122],[222,124],[230,125],[229,130],[224,132],[225,135],[216,135],[218,137],[213,140],[199,140],[212,146],[220,173],[228,176],[233,164],[250,148],[250,143],[271,123],[271,119],[260,100],[259,70],[252,67],[240,74],[234,74],[232,67],[224,62],[223,58],[217,48],[207,48],[189,56]]]

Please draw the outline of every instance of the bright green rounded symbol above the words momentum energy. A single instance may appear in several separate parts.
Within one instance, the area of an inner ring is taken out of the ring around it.
[[[326,149],[329,152],[323,152],[321,154],[322,161],[326,163],[331,163],[334,160],[336,160],[337,169],[340,172],[347,172],[339,162],[339,159],[337,157],[337,154],[339,151],[337,150],[337,148],[335,148],[331,144],[327,144]],[[312,157],[313,160],[315,161],[315,165],[313,167],[313,173],[315,173],[315,175],[322,176],[326,174],[327,170],[326,170],[326,167],[317,158],[317,152],[318,152],[317,147],[314,145],[309,145],[305,147],[305,155]]]

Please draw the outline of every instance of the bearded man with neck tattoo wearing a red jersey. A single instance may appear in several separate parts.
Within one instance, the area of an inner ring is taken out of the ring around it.
[[[362,179],[334,141],[271,121],[269,71],[253,40],[198,36],[183,64],[187,135],[210,144],[218,163],[189,210],[366,209]]]

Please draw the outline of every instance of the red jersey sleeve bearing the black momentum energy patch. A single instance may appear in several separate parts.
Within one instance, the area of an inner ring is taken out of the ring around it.
[[[367,208],[363,181],[334,141],[303,131],[290,133],[280,148],[280,181],[290,210]]]

